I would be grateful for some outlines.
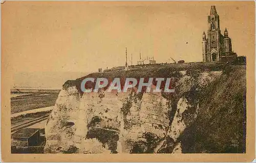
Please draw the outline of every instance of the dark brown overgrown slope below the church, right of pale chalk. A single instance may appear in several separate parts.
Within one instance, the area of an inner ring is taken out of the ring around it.
[[[246,69],[229,66],[197,97],[197,119],[180,136],[183,153],[244,153]]]

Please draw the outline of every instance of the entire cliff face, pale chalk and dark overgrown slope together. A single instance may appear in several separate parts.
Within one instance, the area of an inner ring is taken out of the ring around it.
[[[45,152],[244,151],[244,66],[159,68],[86,77],[123,76],[173,77],[175,92],[137,93],[130,89],[108,93],[101,89],[98,93],[82,93],[79,87],[85,77],[69,80],[47,121]]]

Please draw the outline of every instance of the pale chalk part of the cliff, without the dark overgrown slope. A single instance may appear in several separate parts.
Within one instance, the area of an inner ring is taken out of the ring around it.
[[[199,92],[221,75],[177,71],[174,93],[81,93],[68,81],[46,124],[45,152],[181,153],[184,130],[206,109]]]

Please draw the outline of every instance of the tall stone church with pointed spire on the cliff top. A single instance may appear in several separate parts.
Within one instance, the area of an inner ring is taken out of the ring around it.
[[[216,7],[211,6],[210,15],[208,15],[207,37],[203,32],[203,62],[231,61],[236,59],[237,53],[232,51],[231,39],[228,31],[225,29],[224,36],[220,30],[220,17]]]

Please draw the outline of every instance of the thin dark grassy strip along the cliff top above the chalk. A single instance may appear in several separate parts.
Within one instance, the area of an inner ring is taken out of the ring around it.
[[[186,71],[187,75],[193,75],[200,72],[210,72],[210,71],[227,71],[230,68],[239,68],[245,67],[245,65],[231,65],[223,62],[211,62],[211,63],[203,63],[203,62],[195,62],[195,63],[184,63],[184,64],[167,64],[167,65],[146,65],[146,67],[135,68],[130,70],[113,70],[113,71],[104,71],[104,72],[95,72],[91,73],[87,76],[83,76],[76,80],[68,80],[63,86],[63,89],[67,89],[72,86],[76,86],[79,90],[79,93],[82,94],[80,90],[81,82],[84,78],[92,77],[92,78],[108,78],[113,79],[116,77],[119,78],[156,78],[156,77],[180,77],[180,71]]]

